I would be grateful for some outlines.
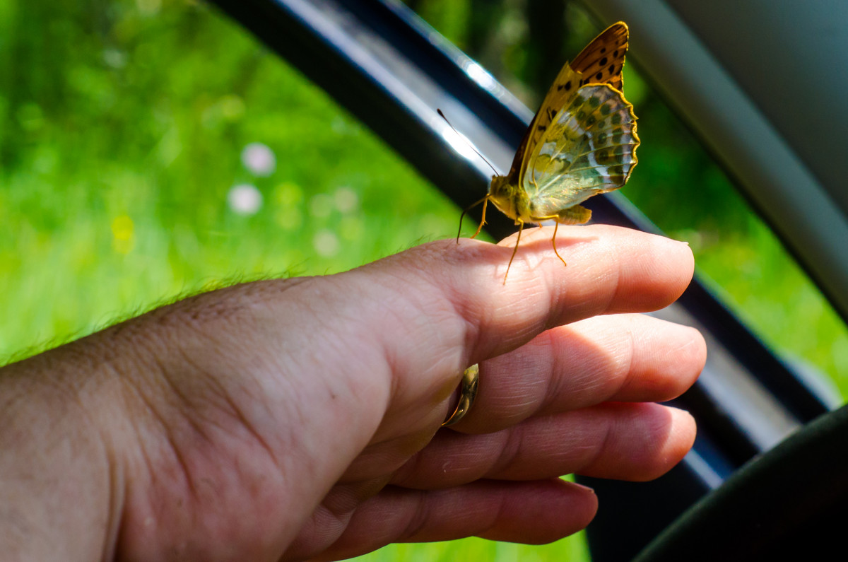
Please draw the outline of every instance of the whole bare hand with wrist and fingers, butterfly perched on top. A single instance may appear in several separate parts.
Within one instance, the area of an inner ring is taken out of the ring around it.
[[[579,531],[577,473],[645,481],[695,439],[656,404],[695,329],[639,314],[686,244],[608,226],[441,240],[347,273],[241,284],[0,369],[0,552],[39,560],[339,559],[390,542]],[[470,413],[440,428],[463,369]]]

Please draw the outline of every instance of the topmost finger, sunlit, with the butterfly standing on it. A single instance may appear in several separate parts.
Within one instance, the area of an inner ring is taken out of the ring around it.
[[[516,349],[554,326],[598,314],[658,310],[675,301],[692,278],[692,252],[682,242],[607,225],[561,227],[556,244],[568,263],[564,267],[551,248],[552,233],[553,228],[524,231],[506,283],[515,235],[498,245],[441,240],[372,265],[402,265],[415,275],[410,285],[431,285],[418,294],[444,298],[437,304],[449,306],[463,323],[469,364]],[[444,318],[444,311],[438,316]]]

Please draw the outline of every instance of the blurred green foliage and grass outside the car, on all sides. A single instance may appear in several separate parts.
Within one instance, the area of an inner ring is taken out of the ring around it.
[[[533,108],[601,28],[565,0],[407,3]],[[626,72],[642,145],[623,193],[689,241],[700,273],[770,345],[845,396],[845,325],[632,61]],[[450,237],[458,218],[204,3],[0,2],[0,362],[233,280],[356,267]],[[460,554],[585,555],[577,537],[401,545],[371,558]]]

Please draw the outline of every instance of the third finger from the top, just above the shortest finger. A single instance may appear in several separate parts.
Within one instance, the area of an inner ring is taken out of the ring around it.
[[[695,421],[683,410],[610,402],[484,435],[439,431],[395,472],[392,483],[438,489],[479,479],[533,481],[572,473],[646,481],[677,464],[694,440]]]

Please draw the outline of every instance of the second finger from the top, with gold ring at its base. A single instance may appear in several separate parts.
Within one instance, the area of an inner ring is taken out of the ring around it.
[[[454,429],[488,433],[601,402],[664,402],[705,361],[695,329],[643,314],[588,318],[483,362],[477,400]]]

